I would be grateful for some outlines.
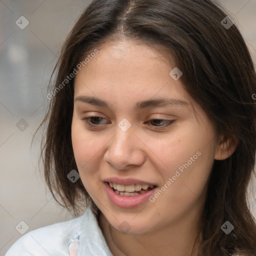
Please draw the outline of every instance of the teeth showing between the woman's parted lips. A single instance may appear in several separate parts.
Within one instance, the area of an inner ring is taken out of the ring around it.
[[[136,196],[136,195],[145,193],[155,187],[155,185],[140,185],[140,184],[121,185],[121,184],[113,183],[110,181],[107,183],[116,194],[119,194],[122,196]]]

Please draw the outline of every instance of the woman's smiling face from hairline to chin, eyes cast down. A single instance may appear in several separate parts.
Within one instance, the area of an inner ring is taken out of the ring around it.
[[[84,187],[123,232],[195,221],[215,157],[212,122],[155,49],[128,40],[97,49],[74,86],[72,145]]]

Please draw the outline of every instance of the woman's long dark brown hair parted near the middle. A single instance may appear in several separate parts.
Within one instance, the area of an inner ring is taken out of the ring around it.
[[[53,89],[103,41],[123,36],[169,49],[183,71],[180,79],[186,91],[213,120],[218,132],[238,139],[230,157],[214,160],[199,255],[252,256],[256,254],[256,225],[246,190],[256,153],[256,105],[251,97],[256,92],[256,74],[235,24],[228,29],[221,24],[225,17],[211,0],[93,0],[62,47]],[[41,157],[52,195],[77,216],[79,201],[91,202],[95,211],[97,207],[80,179],[72,183],[66,177],[70,170],[77,170],[71,143],[73,85],[74,79],[70,79],[51,96],[41,123],[47,124]],[[234,226],[228,235],[220,229],[227,220]]]

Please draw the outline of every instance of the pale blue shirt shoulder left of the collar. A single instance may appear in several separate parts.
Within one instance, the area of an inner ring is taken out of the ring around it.
[[[5,256],[68,255],[68,244],[83,216],[34,229],[15,241]]]

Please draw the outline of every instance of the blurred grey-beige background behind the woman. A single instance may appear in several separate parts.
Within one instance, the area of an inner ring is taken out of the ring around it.
[[[47,83],[60,47],[89,2],[0,0],[0,256],[22,233],[73,218],[54,201],[39,173],[40,133],[31,148],[30,143],[46,110]],[[256,0],[219,2],[256,62]],[[254,214],[255,204],[251,199]]]

